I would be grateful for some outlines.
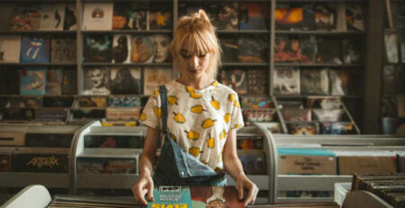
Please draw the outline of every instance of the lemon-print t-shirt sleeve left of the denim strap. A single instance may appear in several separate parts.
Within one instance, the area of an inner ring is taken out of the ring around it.
[[[158,88],[153,91],[148,103],[143,108],[139,122],[156,130],[161,130],[162,110],[160,108],[160,93]]]

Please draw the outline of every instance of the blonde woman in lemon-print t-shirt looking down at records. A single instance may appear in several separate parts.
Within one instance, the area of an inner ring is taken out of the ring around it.
[[[237,155],[237,130],[244,125],[238,94],[215,80],[220,66],[220,44],[204,11],[179,20],[170,51],[174,67],[181,75],[165,85],[167,130],[171,139],[217,173],[226,171],[237,182],[239,199],[253,204],[258,188],[245,176]],[[162,128],[160,107],[156,90],[140,116],[148,132],[139,159],[139,181],[132,192],[137,202],[145,205],[145,195],[153,201],[152,167]],[[226,185],[226,180],[223,178],[216,185]]]

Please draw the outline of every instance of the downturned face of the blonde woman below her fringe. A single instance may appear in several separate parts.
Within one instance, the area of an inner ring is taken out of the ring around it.
[[[180,50],[179,67],[182,76],[198,78],[206,75],[211,53]]]

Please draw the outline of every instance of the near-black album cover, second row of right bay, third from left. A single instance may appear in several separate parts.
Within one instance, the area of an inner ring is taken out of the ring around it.
[[[335,37],[317,39],[317,63],[342,64],[342,42]]]

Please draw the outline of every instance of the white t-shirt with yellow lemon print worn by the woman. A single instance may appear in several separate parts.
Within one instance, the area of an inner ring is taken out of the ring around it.
[[[175,80],[167,83],[167,129],[172,140],[215,171],[223,170],[222,149],[228,131],[244,125],[238,94],[229,86],[212,82],[201,90]],[[150,95],[140,122],[161,130],[158,88]]]

